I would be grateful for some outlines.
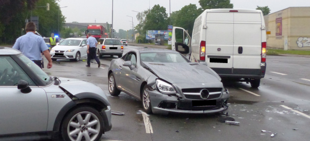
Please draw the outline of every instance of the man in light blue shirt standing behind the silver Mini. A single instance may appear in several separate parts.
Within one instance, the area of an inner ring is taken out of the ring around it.
[[[53,63],[52,59],[50,58],[48,47],[43,38],[35,34],[35,24],[33,22],[27,23],[25,31],[26,34],[17,38],[13,48],[21,51],[26,57],[36,63],[40,68],[42,68],[42,51],[48,61],[47,68],[51,68]]]

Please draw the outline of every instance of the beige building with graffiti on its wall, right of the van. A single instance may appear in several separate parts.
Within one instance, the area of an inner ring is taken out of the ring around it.
[[[310,7],[289,7],[264,16],[264,20],[267,47],[310,50]]]

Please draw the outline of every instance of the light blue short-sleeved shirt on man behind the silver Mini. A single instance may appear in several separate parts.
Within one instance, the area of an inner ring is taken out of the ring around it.
[[[43,52],[48,49],[43,38],[33,32],[27,32],[27,34],[17,38],[12,48],[21,51],[32,61],[42,60],[41,51]]]

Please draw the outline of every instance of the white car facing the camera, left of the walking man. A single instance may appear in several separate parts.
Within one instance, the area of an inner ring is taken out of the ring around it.
[[[57,59],[68,59],[79,61],[81,58],[87,58],[87,46],[85,38],[67,38],[59,45],[53,47],[50,55],[53,61]]]

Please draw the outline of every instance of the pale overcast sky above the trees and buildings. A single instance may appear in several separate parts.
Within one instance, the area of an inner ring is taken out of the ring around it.
[[[152,9],[155,4],[164,6],[169,16],[169,1],[171,1],[171,13],[178,11],[190,3],[199,5],[199,0],[113,0],[113,29],[131,29],[131,17],[134,26],[139,24],[137,14]],[[112,0],[60,0],[58,2],[66,22],[96,22],[112,23]],[[255,9],[258,6],[268,6],[271,13],[294,6],[310,6],[310,0],[231,0],[235,9]],[[133,11],[132,11],[133,10]]]

